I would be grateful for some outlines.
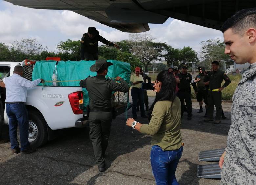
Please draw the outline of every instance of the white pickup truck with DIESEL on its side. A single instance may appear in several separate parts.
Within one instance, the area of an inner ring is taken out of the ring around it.
[[[24,78],[31,80],[33,65],[24,65],[24,62],[0,62],[0,73],[3,73],[2,76],[8,73],[6,76],[11,76],[16,65],[22,65],[25,70]],[[5,88],[0,87],[0,93],[1,102],[5,107]],[[129,94],[126,93],[126,96]],[[118,107],[119,97],[119,94],[118,98],[114,97],[114,102],[117,104],[116,115],[126,110],[124,104]],[[25,105],[29,114],[29,142],[33,148],[54,139],[54,130],[84,127],[88,120],[83,112],[81,87],[36,86],[28,89]],[[4,114],[3,123],[8,124],[6,111],[2,110],[2,114]]]

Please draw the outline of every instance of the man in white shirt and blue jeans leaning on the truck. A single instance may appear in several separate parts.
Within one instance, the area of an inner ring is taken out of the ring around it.
[[[1,87],[6,88],[6,113],[9,118],[9,136],[11,143],[11,150],[14,154],[22,153],[32,153],[35,149],[30,148],[28,140],[28,111],[25,106],[27,98],[27,88],[32,88],[38,85],[40,82],[44,82],[43,79],[36,79],[34,81],[29,81],[23,78],[24,69],[22,66],[17,65],[14,67],[13,75],[4,78],[0,82]],[[17,126],[19,124],[20,130],[20,145],[17,141]]]

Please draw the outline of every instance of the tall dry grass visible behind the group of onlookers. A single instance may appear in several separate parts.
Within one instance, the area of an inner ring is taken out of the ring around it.
[[[158,73],[150,73],[148,76],[151,77],[152,82],[154,82],[156,80]],[[231,83],[222,90],[222,100],[232,100],[232,96],[234,94],[234,91],[236,90],[236,87],[241,79],[241,75],[237,74],[237,75],[232,75],[229,74],[228,77],[231,80]],[[225,81],[223,81],[222,85],[225,83]],[[154,91],[147,91],[148,96],[151,97],[155,97],[156,96],[156,92]],[[191,93],[192,93],[192,98],[196,98],[195,96],[195,92],[193,90],[193,87],[191,86]]]

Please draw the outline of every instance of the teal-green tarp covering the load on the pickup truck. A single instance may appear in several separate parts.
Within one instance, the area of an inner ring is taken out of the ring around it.
[[[108,74],[106,77],[116,78],[120,76],[123,78],[128,84],[130,83],[130,64],[127,62],[116,61],[116,60],[107,60],[108,62],[112,62],[113,65],[108,67]],[[68,81],[68,82],[58,82],[58,86],[76,86],[79,87],[80,81],[71,81],[71,80],[82,80],[87,78],[89,75],[96,76],[96,72],[91,72],[90,67],[93,65],[95,61],[59,61],[57,64],[57,74],[58,81]],[[56,61],[48,60],[48,61],[37,61],[33,72],[32,72],[32,80],[37,78],[42,78],[47,81],[52,81],[53,70],[55,69]],[[39,86],[43,84],[40,83]],[[46,82],[45,86],[52,86],[53,83]],[[86,107],[88,100],[88,92],[83,88],[84,94],[84,105]]]

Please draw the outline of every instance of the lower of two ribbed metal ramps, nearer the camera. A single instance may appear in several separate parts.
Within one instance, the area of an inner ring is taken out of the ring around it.
[[[221,168],[218,163],[198,165],[197,166],[197,177],[198,178],[221,178]]]

